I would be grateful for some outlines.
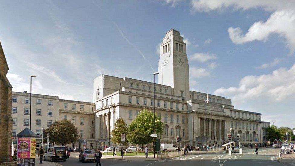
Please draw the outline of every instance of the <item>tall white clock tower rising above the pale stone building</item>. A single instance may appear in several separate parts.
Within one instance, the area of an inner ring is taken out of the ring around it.
[[[180,32],[171,29],[166,32],[160,47],[158,66],[159,84],[174,88],[176,96],[190,99],[189,64],[186,57],[186,44]]]

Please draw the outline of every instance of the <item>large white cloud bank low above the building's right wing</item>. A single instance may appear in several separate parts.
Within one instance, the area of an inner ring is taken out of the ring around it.
[[[215,95],[232,98],[236,102],[268,98],[273,101],[283,101],[294,98],[295,95],[295,64],[290,69],[280,68],[271,74],[260,76],[245,76],[240,80],[239,87],[219,88]]]

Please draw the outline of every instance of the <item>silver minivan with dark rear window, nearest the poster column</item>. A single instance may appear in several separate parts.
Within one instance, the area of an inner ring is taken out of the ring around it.
[[[48,158],[50,161],[62,160],[66,161],[66,147],[64,146],[53,146],[48,148],[48,152],[44,154],[44,160]]]

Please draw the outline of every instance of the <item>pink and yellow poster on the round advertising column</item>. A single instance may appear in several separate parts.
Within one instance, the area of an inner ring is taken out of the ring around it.
[[[18,158],[30,158],[31,138],[18,138]]]

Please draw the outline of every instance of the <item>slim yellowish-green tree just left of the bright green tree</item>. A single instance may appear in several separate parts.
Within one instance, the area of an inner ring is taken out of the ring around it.
[[[128,127],[123,118],[119,118],[115,122],[115,129],[112,130],[112,142],[115,142],[116,144],[123,144],[127,146],[127,138],[125,139],[125,142],[121,142],[121,134],[127,135]]]

